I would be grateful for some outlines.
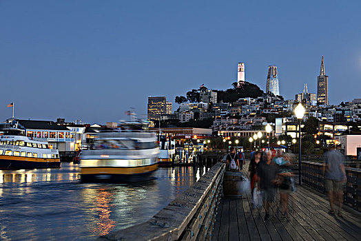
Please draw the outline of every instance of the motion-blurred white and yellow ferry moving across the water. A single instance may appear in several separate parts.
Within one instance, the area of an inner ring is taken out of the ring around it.
[[[82,182],[140,182],[152,179],[158,169],[159,147],[147,123],[122,123],[101,132],[94,146],[80,156]]]

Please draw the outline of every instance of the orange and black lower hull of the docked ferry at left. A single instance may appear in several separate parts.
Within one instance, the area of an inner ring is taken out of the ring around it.
[[[40,168],[56,168],[60,167],[60,160],[46,161],[41,158],[33,158],[37,160],[21,160],[15,157],[1,157],[0,169],[40,169]]]

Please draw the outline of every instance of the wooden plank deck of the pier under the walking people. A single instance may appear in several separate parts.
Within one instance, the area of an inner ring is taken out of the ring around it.
[[[330,215],[325,196],[302,186],[291,193],[287,220],[277,197],[267,221],[262,207],[252,209],[250,192],[239,199],[223,198],[212,240],[361,240],[359,211],[344,206],[342,218]]]

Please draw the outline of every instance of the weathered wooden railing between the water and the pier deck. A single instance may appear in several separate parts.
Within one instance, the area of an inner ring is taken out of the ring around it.
[[[224,163],[216,163],[198,182],[150,220],[101,236],[105,240],[210,240],[222,192]]]

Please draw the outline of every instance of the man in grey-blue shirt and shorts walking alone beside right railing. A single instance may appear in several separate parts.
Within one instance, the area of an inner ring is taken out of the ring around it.
[[[342,203],[344,182],[347,181],[346,171],[344,171],[344,155],[336,150],[333,145],[329,151],[324,154],[323,174],[324,185],[329,193],[330,214],[335,214],[333,205],[338,200],[338,216],[342,217]]]

